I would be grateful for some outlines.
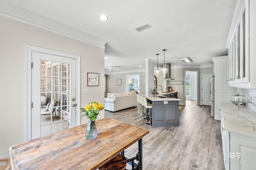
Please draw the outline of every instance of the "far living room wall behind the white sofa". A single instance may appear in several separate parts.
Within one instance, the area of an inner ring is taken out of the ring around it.
[[[145,94],[146,90],[146,72],[133,72],[122,74],[110,74],[107,75],[107,93],[125,93],[126,92],[126,75],[140,74],[140,94]],[[122,79],[122,86],[116,85],[116,79]]]

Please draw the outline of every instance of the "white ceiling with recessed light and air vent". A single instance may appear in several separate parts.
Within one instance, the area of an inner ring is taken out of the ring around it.
[[[227,55],[236,0],[4,0],[107,41],[105,69],[145,69],[145,59],[211,64]],[[107,21],[98,16],[105,14]],[[136,27],[152,27],[138,32]],[[139,67],[139,66],[142,67]]]

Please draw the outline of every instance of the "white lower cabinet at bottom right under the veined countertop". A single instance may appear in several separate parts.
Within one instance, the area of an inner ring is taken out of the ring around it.
[[[220,119],[225,170],[256,170],[256,138],[227,132]]]

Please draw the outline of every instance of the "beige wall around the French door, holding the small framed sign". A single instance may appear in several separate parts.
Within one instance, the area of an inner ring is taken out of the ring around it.
[[[81,107],[90,100],[104,103],[104,49],[26,23],[0,16],[0,158],[9,146],[25,141],[26,48],[33,45],[81,56]],[[87,72],[99,73],[99,86],[87,87]],[[104,111],[98,118],[104,117]],[[86,123],[86,117],[81,124]]]

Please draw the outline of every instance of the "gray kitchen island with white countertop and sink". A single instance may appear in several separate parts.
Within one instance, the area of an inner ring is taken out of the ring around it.
[[[179,101],[164,95],[142,94],[152,103],[152,127],[179,126]]]

